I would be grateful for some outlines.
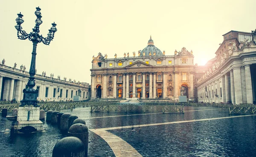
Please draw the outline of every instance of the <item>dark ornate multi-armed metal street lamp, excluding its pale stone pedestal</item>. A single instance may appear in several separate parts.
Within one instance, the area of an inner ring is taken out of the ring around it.
[[[28,88],[23,90],[24,96],[23,100],[21,100],[20,107],[23,107],[24,105],[33,105],[34,107],[38,106],[37,96],[38,96],[38,90],[33,89],[35,87],[35,56],[36,56],[36,47],[38,43],[43,42],[45,45],[49,45],[52,39],[54,38],[54,33],[57,31],[56,24],[52,23],[51,29],[49,29],[49,33],[47,34],[47,37],[44,38],[42,35],[39,35],[39,26],[43,23],[41,20],[41,9],[39,7],[36,7],[35,15],[35,27],[32,29],[32,32],[27,34],[24,30],[22,30],[21,24],[24,22],[23,15],[17,14],[18,17],[16,18],[17,25],[15,28],[17,29],[17,37],[21,40],[26,40],[27,38],[29,41],[33,42],[33,51],[32,51],[32,59],[29,69],[29,81],[28,81]]]

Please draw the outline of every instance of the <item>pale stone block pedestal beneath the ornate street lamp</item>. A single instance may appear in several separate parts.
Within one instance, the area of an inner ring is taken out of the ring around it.
[[[14,132],[43,131],[43,122],[39,120],[40,107],[25,106],[19,107],[17,122],[12,124]]]

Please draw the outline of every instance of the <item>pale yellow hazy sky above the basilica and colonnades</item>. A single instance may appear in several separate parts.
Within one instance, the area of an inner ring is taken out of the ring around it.
[[[215,57],[222,35],[230,30],[256,28],[255,0],[0,0],[0,61],[29,70],[32,42],[17,39],[15,19],[21,12],[23,30],[35,26],[40,6],[46,37],[51,23],[58,31],[49,46],[39,43],[36,69],[90,83],[92,56],[101,52],[113,58],[154,45],[166,55],[186,47],[195,62],[204,65]]]

